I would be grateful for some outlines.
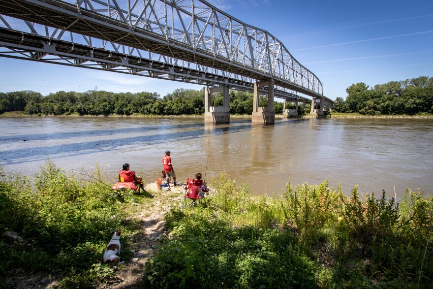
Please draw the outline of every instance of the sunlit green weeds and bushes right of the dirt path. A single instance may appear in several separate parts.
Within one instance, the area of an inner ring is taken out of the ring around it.
[[[146,266],[152,288],[430,288],[433,200],[361,200],[291,184],[252,198],[226,177],[202,206],[167,216],[171,237]]]

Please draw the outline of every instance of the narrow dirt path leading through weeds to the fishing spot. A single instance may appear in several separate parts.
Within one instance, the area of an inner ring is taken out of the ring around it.
[[[143,269],[146,261],[153,255],[153,247],[167,231],[165,229],[164,215],[173,205],[182,202],[183,188],[172,187],[170,191],[156,191],[155,184],[146,186],[153,200],[150,203],[138,204],[130,219],[139,221],[139,232],[132,236],[133,246],[131,252],[133,258],[125,265],[120,266],[116,274],[116,280],[111,284],[102,284],[99,289],[138,289],[143,279]],[[155,192],[155,193],[154,193]]]

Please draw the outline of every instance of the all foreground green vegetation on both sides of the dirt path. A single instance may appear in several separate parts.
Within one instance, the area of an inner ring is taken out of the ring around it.
[[[50,161],[32,179],[1,172],[1,284],[23,270],[55,276],[59,288],[116,282],[101,263],[110,232],[122,229],[127,263],[137,225],[126,204],[152,198],[113,193],[104,180],[100,171],[78,180]],[[224,175],[211,187],[195,208],[172,206],[143,288],[430,288],[429,195],[361,199],[356,187],[347,196],[325,181],[251,197]]]

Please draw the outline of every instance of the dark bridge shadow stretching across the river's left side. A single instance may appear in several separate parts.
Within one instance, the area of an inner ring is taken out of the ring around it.
[[[1,153],[0,165],[23,164],[32,161],[59,159],[72,156],[85,156],[94,153],[116,151],[119,149],[137,150],[156,144],[172,143],[175,141],[192,140],[197,138],[215,137],[217,135],[236,133],[251,129],[275,128],[289,125],[292,122],[276,121],[273,125],[251,124],[250,121],[232,121],[230,124],[180,124],[160,125],[138,128],[95,129],[77,132],[53,132],[45,134],[22,134],[1,139],[0,143],[35,140],[58,140],[107,136],[103,140],[92,140],[59,145],[38,146],[32,148],[17,148]],[[123,137],[124,134],[145,133],[142,136]]]

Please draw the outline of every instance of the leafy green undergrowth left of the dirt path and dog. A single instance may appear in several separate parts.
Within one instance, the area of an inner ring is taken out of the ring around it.
[[[51,161],[32,179],[1,171],[1,284],[20,272],[26,279],[38,272],[56,276],[59,288],[90,288],[113,277],[102,263],[107,242],[115,229],[128,235],[133,224],[125,203],[146,196],[107,190],[98,170],[86,179],[92,181],[67,176]],[[129,240],[122,246],[122,258],[131,258]]]

